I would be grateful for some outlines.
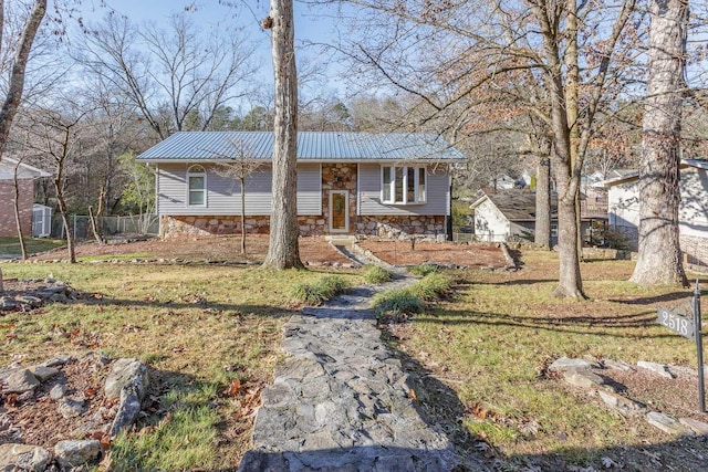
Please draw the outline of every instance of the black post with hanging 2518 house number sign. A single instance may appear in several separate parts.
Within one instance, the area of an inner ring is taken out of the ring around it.
[[[693,312],[693,314],[690,312]],[[688,306],[686,306],[686,303],[679,303],[679,305],[673,310],[659,306],[657,308],[656,321],[660,325],[696,343],[696,355],[698,357],[698,409],[705,413],[704,340],[700,332],[700,289],[698,287],[698,280],[696,280],[694,300]]]

